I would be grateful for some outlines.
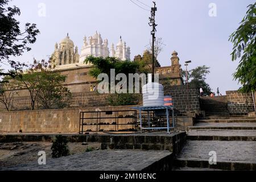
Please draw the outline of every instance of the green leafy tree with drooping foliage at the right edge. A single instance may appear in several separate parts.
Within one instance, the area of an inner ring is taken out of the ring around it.
[[[232,61],[240,59],[234,79],[241,82],[241,92],[256,90],[256,3],[249,5],[240,26],[229,37],[233,43]]]

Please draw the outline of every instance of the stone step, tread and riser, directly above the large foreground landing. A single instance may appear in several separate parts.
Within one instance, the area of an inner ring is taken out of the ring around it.
[[[256,141],[256,130],[192,130],[188,140]]]

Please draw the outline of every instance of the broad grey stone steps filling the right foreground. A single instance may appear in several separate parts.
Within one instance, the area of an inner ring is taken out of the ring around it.
[[[212,98],[209,100],[210,105],[215,105]],[[228,116],[224,112],[218,115],[216,107],[213,110],[207,112],[208,117],[199,118],[194,126],[188,127],[187,143],[174,160],[174,170],[255,171],[256,117]],[[216,152],[216,164],[209,164],[211,151]]]

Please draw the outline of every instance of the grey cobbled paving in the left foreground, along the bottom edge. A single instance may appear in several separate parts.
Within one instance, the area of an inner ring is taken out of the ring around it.
[[[170,154],[169,151],[99,150],[59,159],[49,159],[46,161],[46,165],[40,166],[35,160],[14,167],[0,167],[0,170],[134,171],[142,170]]]

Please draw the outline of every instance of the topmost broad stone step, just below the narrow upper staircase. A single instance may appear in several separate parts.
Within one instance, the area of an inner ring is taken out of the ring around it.
[[[256,122],[256,118],[232,118],[232,119],[197,119],[196,122],[201,123],[233,123],[233,122],[240,122],[240,123],[254,123]]]

